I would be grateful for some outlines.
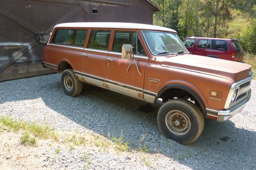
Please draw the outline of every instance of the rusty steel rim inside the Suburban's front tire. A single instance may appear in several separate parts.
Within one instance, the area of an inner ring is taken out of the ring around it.
[[[191,127],[188,116],[180,110],[169,111],[165,116],[165,125],[176,135],[185,135]]]

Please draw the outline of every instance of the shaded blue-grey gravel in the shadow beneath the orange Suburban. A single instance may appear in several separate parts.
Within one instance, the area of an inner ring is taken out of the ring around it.
[[[162,154],[193,169],[256,168],[256,133],[235,127],[231,121],[206,120],[198,140],[181,145],[161,135],[157,109],[143,101],[91,85],[84,85],[82,94],[72,98],[65,95],[59,79],[34,82],[35,88],[29,89],[20,86],[31,85],[26,79],[18,80],[19,89],[9,89],[8,99],[1,96],[0,104],[41,98],[49,108],[86,129],[103,136],[123,134],[131,150]]]

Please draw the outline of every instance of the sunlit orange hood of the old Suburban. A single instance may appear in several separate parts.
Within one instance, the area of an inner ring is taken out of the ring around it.
[[[180,69],[222,77],[233,82],[249,77],[251,68],[250,65],[244,63],[197,55],[163,57],[162,66],[178,67]]]

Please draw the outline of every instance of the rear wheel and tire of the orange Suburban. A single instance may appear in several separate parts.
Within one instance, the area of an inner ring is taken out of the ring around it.
[[[61,83],[67,95],[75,96],[82,91],[82,82],[76,77],[72,69],[66,69],[62,72]]]

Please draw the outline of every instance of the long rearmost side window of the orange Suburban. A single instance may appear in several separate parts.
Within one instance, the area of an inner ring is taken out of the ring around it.
[[[88,30],[58,29],[53,35],[51,43],[83,46]]]

